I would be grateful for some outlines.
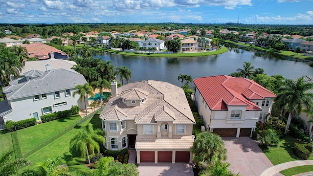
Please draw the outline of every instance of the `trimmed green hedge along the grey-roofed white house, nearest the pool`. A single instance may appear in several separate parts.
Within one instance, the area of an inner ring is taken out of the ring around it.
[[[68,117],[70,115],[78,114],[78,112],[79,112],[79,107],[75,105],[70,110],[63,110],[63,111],[52,112],[46,115],[42,115],[40,116],[40,119],[43,123],[45,123],[45,122],[50,122],[52,120]]]

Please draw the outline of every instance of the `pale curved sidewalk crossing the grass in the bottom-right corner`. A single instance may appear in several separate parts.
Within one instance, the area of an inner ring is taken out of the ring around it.
[[[298,161],[290,161],[290,162],[281,163],[281,164],[268,168],[261,174],[261,176],[273,176],[274,174],[280,171],[283,171],[285,169],[289,169],[289,168],[297,167],[297,166],[305,166],[305,165],[313,165],[313,160],[298,160]],[[307,175],[303,175],[303,176],[307,176]]]

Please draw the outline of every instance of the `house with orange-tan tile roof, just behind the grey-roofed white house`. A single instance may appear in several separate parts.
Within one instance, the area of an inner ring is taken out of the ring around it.
[[[47,44],[33,43],[33,44],[22,44],[27,50],[28,57],[37,57],[39,60],[44,59],[68,59],[65,52],[49,46]]]

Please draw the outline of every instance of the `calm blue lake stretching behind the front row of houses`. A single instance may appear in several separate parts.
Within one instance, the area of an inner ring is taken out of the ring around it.
[[[132,70],[130,82],[140,80],[158,80],[181,86],[179,74],[191,75],[192,78],[228,75],[242,68],[244,62],[251,62],[255,68],[263,68],[268,75],[283,75],[293,79],[303,75],[313,75],[313,67],[291,58],[268,55],[260,51],[246,51],[229,48],[224,54],[186,58],[134,57],[111,53],[98,53],[94,56],[105,61],[112,61],[115,67],[126,66]],[[119,78],[118,78],[119,79]]]

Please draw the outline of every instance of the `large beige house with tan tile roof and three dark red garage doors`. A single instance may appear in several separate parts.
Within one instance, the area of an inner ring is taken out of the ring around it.
[[[137,163],[192,162],[195,119],[182,88],[153,80],[111,86],[99,116],[106,149],[134,147]]]

